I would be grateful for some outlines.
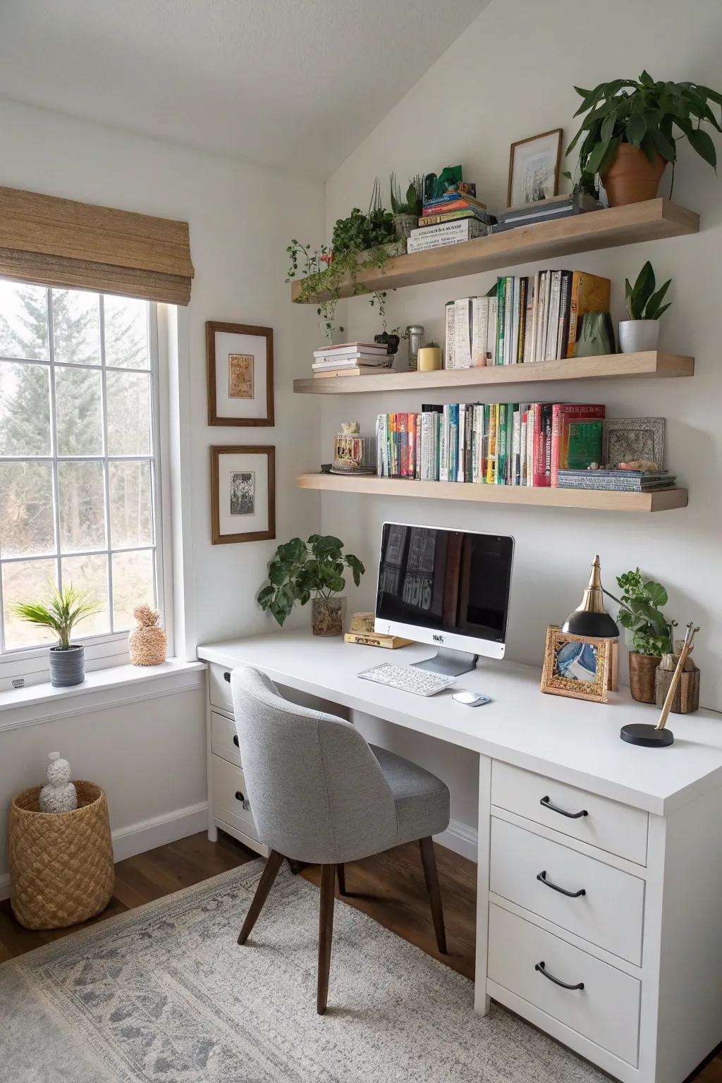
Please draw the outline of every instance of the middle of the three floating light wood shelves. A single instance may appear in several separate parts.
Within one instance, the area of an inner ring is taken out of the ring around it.
[[[392,373],[378,376],[325,376],[293,380],[293,391],[306,395],[345,395],[378,391],[426,391],[431,388],[503,387],[553,380],[622,379],[630,376],[693,376],[694,357],[678,353],[611,353],[598,357],[539,361],[533,365],[488,365],[436,373]]]

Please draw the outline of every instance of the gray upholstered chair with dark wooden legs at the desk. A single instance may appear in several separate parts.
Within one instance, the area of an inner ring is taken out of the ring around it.
[[[326,1010],[334,879],[346,861],[419,840],[441,952],[444,913],[432,835],[448,827],[449,792],[429,771],[369,745],[350,722],[285,700],[250,667],[231,675],[233,707],[253,820],[271,849],[238,943],[246,943],[284,858],[321,865],[316,1007]]]

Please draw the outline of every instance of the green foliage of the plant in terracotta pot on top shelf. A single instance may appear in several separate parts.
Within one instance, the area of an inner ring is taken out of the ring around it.
[[[587,116],[566,153],[581,140],[580,191],[593,190],[594,178],[606,172],[620,143],[640,147],[649,161],[659,154],[673,167],[677,143],[687,139],[693,151],[717,168],[714,143],[701,126],[722,131],[711,107],[722,105],[718,91],[695,82],[655,82],[648,71],[642,71],[639,80],[614,79],[593,90],[574,89],[582,99],[575,117]]]

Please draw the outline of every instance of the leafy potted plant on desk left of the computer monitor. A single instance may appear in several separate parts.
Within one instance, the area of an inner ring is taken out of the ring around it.
[[[343,574],[350,569],[358,586],[366,571],[358,557],[342,550],[343,542],[320,534],[312,534],[307,542],[291,538],[279,545],[268,564],[268,583],[257,599],[261,609],[270,610],[283,626],[297,601],[305,605],[313,597],[314,636],[340,636],[345,599],[338,593],[346,585]]]

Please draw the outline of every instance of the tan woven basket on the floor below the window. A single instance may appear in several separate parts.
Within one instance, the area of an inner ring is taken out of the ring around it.
[[[10,902],[27,929],[62,929],[104,910],[115,870],[105,794],[76,782],[78,808],[40,812],[40,786],[10,807]]]

